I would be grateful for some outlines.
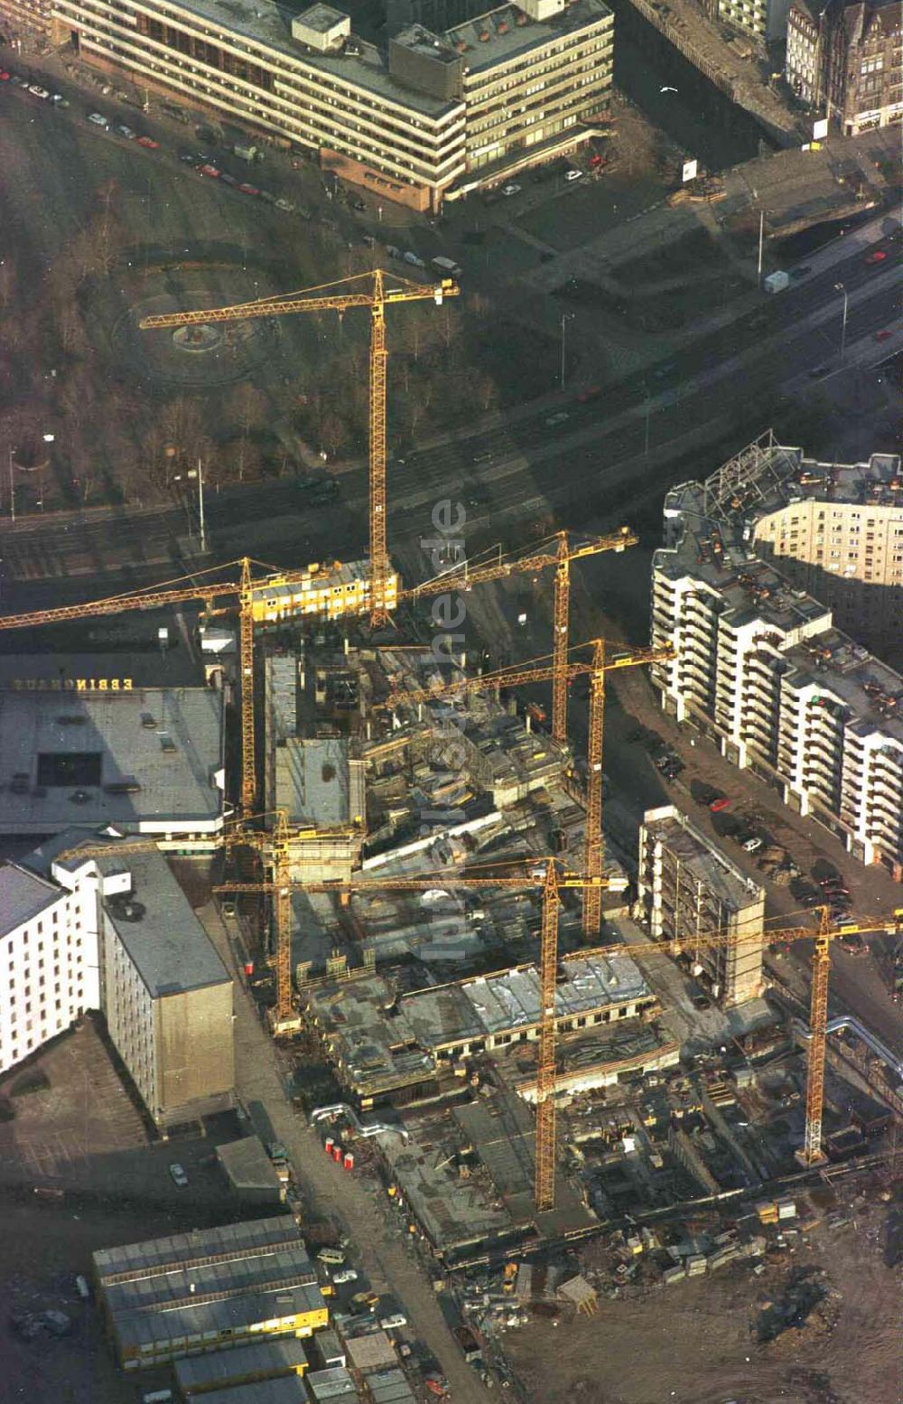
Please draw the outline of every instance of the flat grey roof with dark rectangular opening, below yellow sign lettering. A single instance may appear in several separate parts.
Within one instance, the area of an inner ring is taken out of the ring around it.
[[[212,831],[222,781],[223,699],[210,688],[0,692],[1,833]]]

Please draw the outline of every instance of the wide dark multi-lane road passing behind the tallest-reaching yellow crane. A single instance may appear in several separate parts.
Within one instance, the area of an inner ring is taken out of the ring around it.
[[[642,491],[665,486],[672,461],[688,446],[724,438],[732,424],[749,421],[750,406],[764,428],[791,382],[816,383],[837,369],[837,282],[850,299],[847,358],[861,341],[874,343],[890,314],[897,277],[893,257],[868,265],[857,249],[824,274],[763,298],[754,312],[701,336],[652,375],[606,385],[585,403],[561,397],[558,404],[411,452],[390,466],[390,543],[398,548],[429,534],[429,508],[449,494],[467,504],[471,526],[488,526],[489,519],[494,525],[536,517],[550,505],[561,519],[575,519],[578,504],[579,514],[599,511],[606,501],[616,510],[618,498],[627,494],[630,500],[638,484]],[[875,352],[881,354],[878,344]],[[366,466],[348,465],[338,476],[341,503],[335,507],[313,505],[294,482],[208,494],[212,550],[206,564],[245,552],[276,564],[331,559],[337,541],[362,552]],[[627,505],[620,501],[617,511]],[[46,524],[20,521],[14,534],[3,534],[7,608],[91,598],[107,588],[112,592],[128,583],[196,569],[192,518],[194,501],[140,512],[123,508],[98,519],[55,514]],[[41,590],[39,581],[53,581],[52,590]]]

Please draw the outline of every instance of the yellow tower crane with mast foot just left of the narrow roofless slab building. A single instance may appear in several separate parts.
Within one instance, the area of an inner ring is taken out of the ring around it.
[[[603,866],[603,834],[602,834],[602,750],[604,739],[604,708],[606,708],[606,673],[620,668],[637,668],[646,663],[663,663],[673,656],[670,646],[660,649],[628,649],[617,646],[613,651],[606,651],[604,639],[592,639],[589,643],[576,644],[576,649],[592,649],[592,658],[571,660],[566,656],[558,661],[552,654],[552,663],[547,664],[536,658],[522,667],[499,668],[495,673],[484,673],[477,678],[450,682],[439,688],[418,688],[414,692],[398,692],[387,699],[386,706],[397,706],[401,702],[429,702],[432,698],[449,696],[463,691],[482,691],[485,688],[516,688],[527,682],[552,682],[555,689],[566,696],[568,684],[582,674],[589,674],[589,723],[586,736],[586,826],[583,841],[583,872],[588,886],[583,893],[583,935],[592,939],[599,932],[602,921],[602,878]]]

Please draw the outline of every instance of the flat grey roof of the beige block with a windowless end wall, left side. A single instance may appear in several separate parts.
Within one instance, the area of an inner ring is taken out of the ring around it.
[[[104,911],[149,994],[160,998],[231,984],[163,854],[129,854],[125,848],[112,862],[132,873],[132,893],[107,897]]]

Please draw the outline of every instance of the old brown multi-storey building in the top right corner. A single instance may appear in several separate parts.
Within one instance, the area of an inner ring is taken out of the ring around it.
[[[844,136],[903,121],[900,7],[892,0],[794,0],[787,81]]]

